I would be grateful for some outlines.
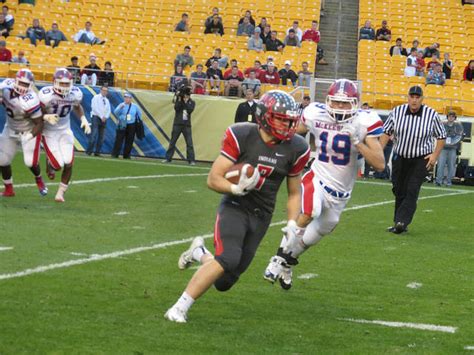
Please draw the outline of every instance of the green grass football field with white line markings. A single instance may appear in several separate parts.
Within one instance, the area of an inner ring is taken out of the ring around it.
[[[425,186],[397,236],[385,231],[390,185],[357,183],[290,291],[262,278],[286,218],[282,189],[249,270],[174,324],[163,314],[194,271],[178,270],[180,253],[198,235],[212,250],[220,196],[206,187],[208,165],[78,156],[65,204],[54,202],[55,183],[39,195],[20,156],[13,168],[17,196],[0,199],[0,354],[474,349],[472,188]]]

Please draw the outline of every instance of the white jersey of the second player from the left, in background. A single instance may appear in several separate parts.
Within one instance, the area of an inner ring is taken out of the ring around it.
[[[57,94],[52,86],[43,87],[39,93],[41,106],[46,110],[46,113],[57,114],[59,122],[55,125],[49,122],[44,123],[44,132],[48,131],[62,131],[71,128],[71,111],[74,107],[79,106],[82,101],[82,91],[73,86],[68,95]]]

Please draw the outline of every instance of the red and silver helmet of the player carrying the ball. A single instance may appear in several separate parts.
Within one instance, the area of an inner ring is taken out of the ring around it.
[[[298,126],[298,112],[293,96],[284,91],[265,93],[257,103],[255,116],[259,126],[279,140],[290,140]]]

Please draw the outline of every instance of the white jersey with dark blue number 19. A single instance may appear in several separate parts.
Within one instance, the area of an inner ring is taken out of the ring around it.
[[[355,125],[362,142],[366,137],[383,133],[383,123],[374,111],[359,110],[348,122],[337,123],[326,105],[310,104],[303,112],[302,122],[315,137],[316,158],[311,165],[322,183],[338,192],[351,192],[357,177],[359,152],[348,134],[341,133],[345,125]]]

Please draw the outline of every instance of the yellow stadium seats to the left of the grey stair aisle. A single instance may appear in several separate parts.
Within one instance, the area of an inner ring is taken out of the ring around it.
[[[205,63],[211,57],[214,48],[221,48],[229,59],[236,58],[239,66],[253,66],[255,59],[266,61],[270,53],[247,51],[247,37],[236,36],[239,18],[248,9],[252,16],[259,20],[266,16],[273,29],[280,33],[283,40],[284,31],[293,20],[299,20],[300,27],[311,27],[312,20],[319,20],[320,2],[309,0],[276,0],[268,3],[257,1],[220,0],[184,0],[179,4],[174,0],[37,0],[36,6],[21,4],[9,0],[7,5],[15,16],[14,30],[7,39],[7,48],[13,55],[20,49],[32,64],[37,80],[49,80],[54,69],[70,64],[70,57],[76,55],[79,65],[88,64],[88,57],[94,53],[99,66],[112,62],[116,72],[116,86],[147,89],[167,88],[169,77],[173,74],[173,60],[183,51],[185,45],[192,47],[191,55],[195,63]],[[204,21],[211,14],[214,6],[219,7],[223,16],[225,35],[204,35]],[[191,33],[174,32],[175,25],[186,12],[191,20]],[[46,29],[51,28],[53,21],[69,39],[61,42],[57,48],[44,45],[37,47],[21,40],[16,35],[24,34],[33,18],[38,18]],[[92,30],[107,42],[103,46],[75,44],[72,36],[84,28],[84,23],[91,21]],[[304,42],[301,48],[288,48],[283,53],[271,52],[278,67],[285,60],[294,63],[299,70],[301,62],[308,61],[310,70],[314,71],[316,45]],[[12,75],[14,66],[0,65],[0,74]],[[190,74],[190,70],[186,71]]]

